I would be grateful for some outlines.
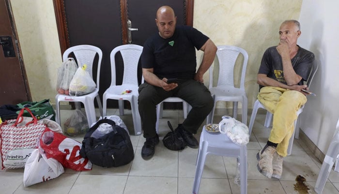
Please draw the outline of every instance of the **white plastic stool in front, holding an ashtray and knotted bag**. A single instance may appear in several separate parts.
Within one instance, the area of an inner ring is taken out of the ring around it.
[[[206,156],[215,154],[236,157],[240,164],[240,193],[247,194],[247,147],[233,143],[226,134],[210,133],[202,128],[200,135],[199,153],[196,164],[196,173],[193,182],[193,194],[198,194],[200,180]],[[208,164],[206,164],[207,166]]]

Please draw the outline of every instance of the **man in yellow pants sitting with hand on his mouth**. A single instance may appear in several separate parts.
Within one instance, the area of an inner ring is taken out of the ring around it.
[[[273,113],[273,127],[266,146],[257,154],[258,170],[264,176],[281,178],[283,157],[287,156],[289,140],[293,135],[296,112],[307,101],[304,81],[314,61],[314,54],[297,45],[300,23],[282,22],[278,46],[268,48],[257,76],[260,85],[258,100]]]

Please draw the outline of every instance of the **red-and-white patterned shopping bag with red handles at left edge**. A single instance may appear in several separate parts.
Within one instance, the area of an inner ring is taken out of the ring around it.
[[[25,120],[23,117],[25,110],[31,114],[32,121],[20,126]],[[22,109],[16,120],[6,120],[1,123],[0,151],[2,169],[23,168],[31,152],[37,148],[41,134],[45,129],[46,125],[38,123],[38,119],[28,108]]]

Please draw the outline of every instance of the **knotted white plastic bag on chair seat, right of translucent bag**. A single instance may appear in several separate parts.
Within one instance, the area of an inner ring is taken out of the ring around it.
[[[95,82],[90,74],[86,71],[87,65],[78,67],[76,73],[73,76],[71,83],[69,84],[70,96],[83,96],[89,94],[95,90]]]

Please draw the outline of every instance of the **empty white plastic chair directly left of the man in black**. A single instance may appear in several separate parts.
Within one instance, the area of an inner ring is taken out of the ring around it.
[[[116,85],[115,55],[120,52],[123,57],[123,83]],[[131,103],[133,126],[135,135],[141,134],[141,119],[138,109],[138,62],[142,52],[139,45],[121,45],[114,48],[110,53],[111,63],[111,84],[103,95],[103,116],[106,116],[107,100],[119,100],[120,115],[123,114],[123,100]],[[143,77],[142,77],[143,82]],[[125,90],[132,90],[131,93],[122,94]]]

